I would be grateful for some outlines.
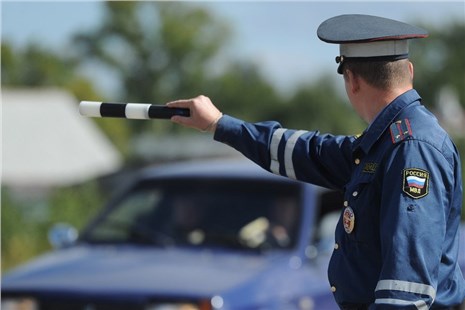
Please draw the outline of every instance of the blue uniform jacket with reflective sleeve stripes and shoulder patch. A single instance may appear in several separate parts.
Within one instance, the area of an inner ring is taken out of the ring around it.
[[[215,140],[263,168],[344,192],[328,268],[341,306],[428,309],[465,298],[459,155],[420,101],[407,91],[358,138],[228,115],[218,123]]]

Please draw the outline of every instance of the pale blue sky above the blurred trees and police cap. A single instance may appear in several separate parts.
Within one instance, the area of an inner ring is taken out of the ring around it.
[[[465,22],[462,1],[191,1],[229,22],[233,36],[223,57],[258,64],[278,88],[292,89],[336,70],[338,46],[320,41],[318,25],[340,14],[370,14],[412,24],[441,27]],[[66,50],[76,32],[96,27],[103,16],[99,1],[2,1],[1,36],[14,46],[40,43]],[[100,87],[111,88],[99,81]]]

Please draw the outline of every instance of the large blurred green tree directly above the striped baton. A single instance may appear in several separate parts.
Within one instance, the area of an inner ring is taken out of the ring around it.
[[[116,98],[164,103],[192,97],[228,37],[225,25],[187,3],[106,2],[102,25],[75,37],[81,62],[98,60],[120,81]],[[127,121],[131,134],[166,133],[168,122]]]

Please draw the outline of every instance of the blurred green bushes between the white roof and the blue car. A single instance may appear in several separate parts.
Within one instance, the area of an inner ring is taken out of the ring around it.
[[[18,194],[2,188],[2,271],[50,250],[47,232],[53,224],[82,229],[104,200],[96,182],[56,189],[48,197]]]

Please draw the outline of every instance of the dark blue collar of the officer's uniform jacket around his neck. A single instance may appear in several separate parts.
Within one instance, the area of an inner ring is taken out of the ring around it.
[[[380,112],[373,123],[371,123],[368,129],[359,138],[359,143],[356,145],[356,148],[360,148],[365,154],[367,154],[373,144],[378,141],[384,131],[386,131],[386,129],[394,122],[399,112],[419,100],[421,100],[421,97],[414,89],[411,89],[394,99],[394,101]]]

